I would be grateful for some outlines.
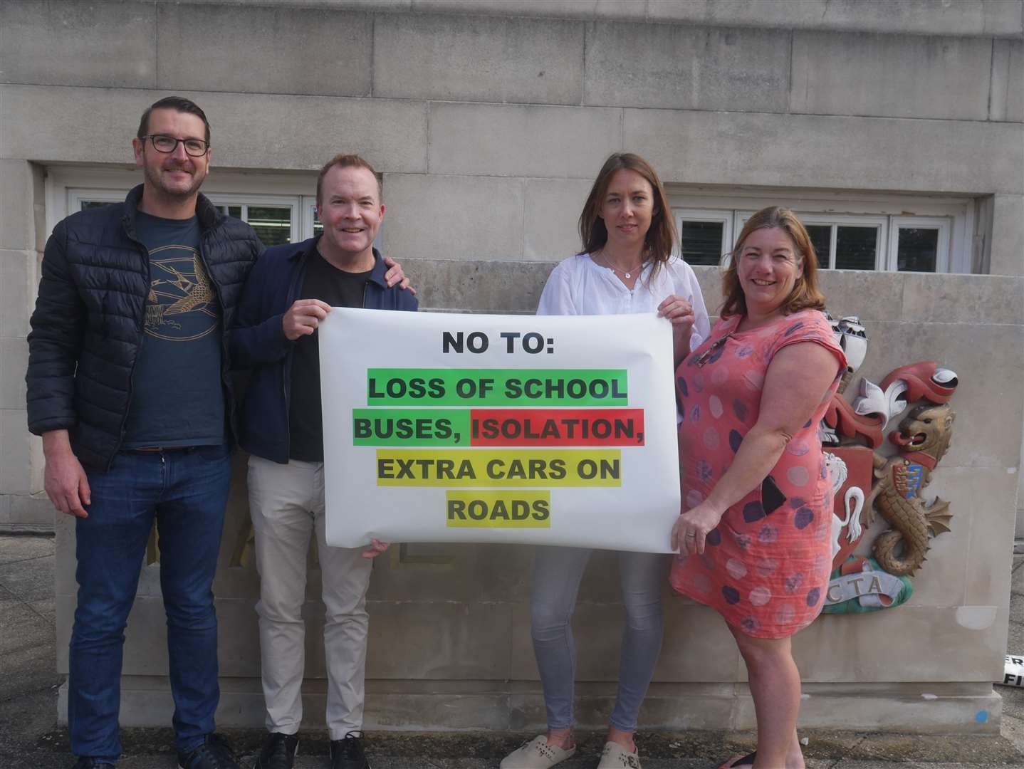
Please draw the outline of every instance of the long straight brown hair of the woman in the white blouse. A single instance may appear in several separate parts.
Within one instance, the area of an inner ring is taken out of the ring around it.
[[[669,261],[669,257],[672,256],[672,247],[679,239],[676,237],[676,224],[672,219],[672,209],[666,199],[662,180],[657,178],[657,173],[647,161],[633,153],[615,153],[609,156],[604,161],[604,165],[601,166],[597,178],[594,179],[594,186],[591,187],[590,195],[583,207],[583,213],[580,214],[580,241],[583,243],[583,251],[580,252],[580,255],[600,251],[608,242],[608,230],[598,212],[604,195],[608,191],[611,177],[614,176],[615,171],[622,169],[636,171],[650,184],[654,198],[654,211],[650,219],[650,228],[644,237],[643,258],[644,261],[648,259],[653,261],[654,270],[657,270]]]

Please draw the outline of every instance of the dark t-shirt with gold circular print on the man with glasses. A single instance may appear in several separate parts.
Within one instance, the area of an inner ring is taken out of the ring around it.
[[[139,211],[135,228],[150,251],[150,295],[122,445],[223,443],[222,313],[199,253],[199,220]]]

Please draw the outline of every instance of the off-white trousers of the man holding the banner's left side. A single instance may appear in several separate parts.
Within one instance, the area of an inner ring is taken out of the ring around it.
[[[323,463],[279,465],[250,457],[249,511],[260,575],[256,613],[267,729],[295,734],[302,722],[302,604],[309,540],[315,531],[326,609],[327,725],[331,739],[342,739],[362,728],[367,587],[373,562],[361,557],[361,548],[333,548],[325,541]]]

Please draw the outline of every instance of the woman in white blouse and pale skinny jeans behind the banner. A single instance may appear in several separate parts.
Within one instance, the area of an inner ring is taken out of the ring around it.
[[[580,216],[583,250],[560,262],[544,287],[538,314],[654,312],[673,328],[675,364],[707,338],[708,311],[693,270],[672,255],[676,228],[662,182],[631,153],[605,161]],[[502,769],[545,769],[575,753],[572,697],[575,648],[570,622],[591,551],[537,549],[531,635],[544,686],[548,731],[502,761]],[[667,556],[618,553],[626,628],[618,693],[598,769],[639,769],[633,733],[662,647],[662,585]],[[612,622],[609,617],[609,623]]]

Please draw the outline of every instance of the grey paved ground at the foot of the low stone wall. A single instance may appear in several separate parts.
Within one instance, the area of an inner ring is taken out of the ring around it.
[[[0,537],[0,769],[67,769],[74,763],[68,734],[56,726],[54,673],[54,546],[48,537]],[[1008,649],[1024,652],[1024,555],[1014,559]],[[974,769],[1024,766],[1024,689],[997,687],[1004,697],[999,737],[872,734],[804,731],[810,769]],[[263,737],[258,730],[230,731],[244,766],[250,766]],[[519,740],[531,735],[376,732],[369,735],[375,769],[490,769]],[[584,734],[581,751],[566,769],[591,769],[601,750],[600,734]],[[122,769],[176,766],[170,729],[129,729],[123,734]],[[746,753],[752,734],[642,732],[645,769],[703,769]],[[323,769],[328,745],[310,731],[296,766]]]

